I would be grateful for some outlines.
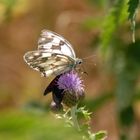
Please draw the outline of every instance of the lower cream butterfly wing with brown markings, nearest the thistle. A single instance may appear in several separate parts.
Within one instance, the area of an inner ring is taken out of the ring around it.
[[[71,69],[75,61],[66,55],[49,51],[30,51],[24,55],[25,62],[43,76],[59,75]]]

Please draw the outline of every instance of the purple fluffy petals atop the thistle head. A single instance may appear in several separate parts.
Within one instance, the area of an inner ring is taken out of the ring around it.
[[[58,88],[63,89],[64,91],[71,91],[75,93],[84,92],[83,81],[74,71],[64,73],[60,76],[57,81]]]

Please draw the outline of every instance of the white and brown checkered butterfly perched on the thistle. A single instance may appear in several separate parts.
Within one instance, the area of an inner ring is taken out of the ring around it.
[[[58,76],[76,69],[82,59],[76,57],[72,45],[61,35],[43,30],[38,40],[38,49],[24,55],[25,62],[44,77]]]

